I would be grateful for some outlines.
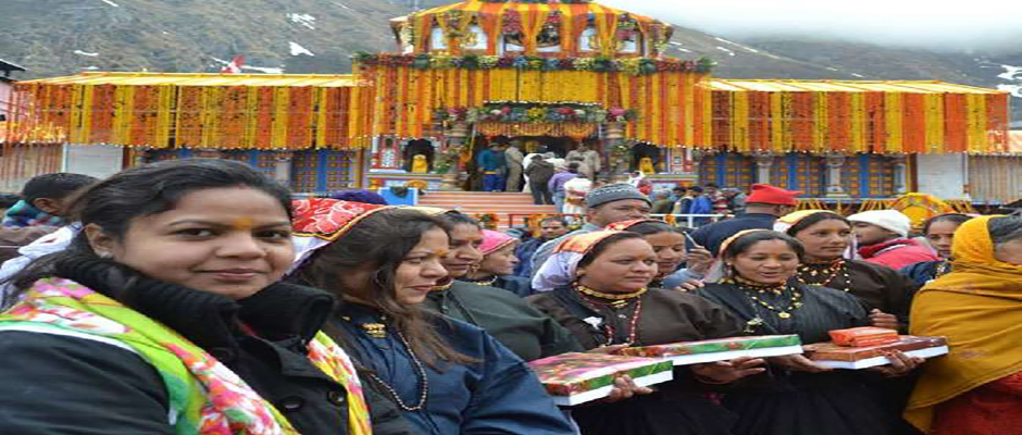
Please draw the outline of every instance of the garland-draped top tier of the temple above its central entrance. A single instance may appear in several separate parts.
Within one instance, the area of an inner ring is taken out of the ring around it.
[[[655,55],[670,25],[588,0],[469,0],[392,20],[406,52]]]

